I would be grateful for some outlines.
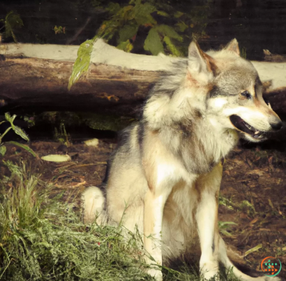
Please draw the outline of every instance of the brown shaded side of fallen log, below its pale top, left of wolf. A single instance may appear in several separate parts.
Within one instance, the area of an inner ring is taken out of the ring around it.
[[[135,115],[159,73],[91,65],[89,73],[68,91],[72,62],[6,59],[0,62],[0,112],[91,111]]]

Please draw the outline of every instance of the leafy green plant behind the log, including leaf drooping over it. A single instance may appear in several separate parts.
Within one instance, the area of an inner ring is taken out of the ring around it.
[[[205,37],[205,29],[211,13],[212,2],[201,5],[191,2],[182,6],[177,1],[130,0],[128,3],[92,1],[93,6],[105,10],[110,18],[99,27],[96,36],[82,45],[70,75],[68,89],[82,73],[89,68],[93,43],[97,38],[116,42],[117,48],[131,52],[136,43],[138,31],[144,29],[146,38],[141,46],[151,55],[160,52],[167,55],[186,55],[192,39]]]

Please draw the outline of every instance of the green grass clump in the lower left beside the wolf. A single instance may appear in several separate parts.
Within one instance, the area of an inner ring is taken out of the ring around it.
[[[122,229],[82,223],[73,202],[54,187],[6,162],[1,179],[1,280],[153,280],[137,240]]]

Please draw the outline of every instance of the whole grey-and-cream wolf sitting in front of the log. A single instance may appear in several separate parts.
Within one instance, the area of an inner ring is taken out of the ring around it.
[[[241,280],[269,280],[234,267],[218,231],[223,160],[240,137],[257,143],[282,127],[262,89],[236,39],[209,52],[190,43],[188,58],[174,62],[154,85],[141,120],[121,133],[105,190],[89,187],[82,194],[84,221],[99,215],[98,222],[137,227],[158,265],[200,245],[206,280],[218,275],[219,263]],[[149,273],[163,280],[156,268]]]

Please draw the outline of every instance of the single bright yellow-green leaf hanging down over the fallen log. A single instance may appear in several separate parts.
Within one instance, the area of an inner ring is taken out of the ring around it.
[[[93,48],[93,43],[96,41],[96,37],[91,40],[87,40],[80,45],[77,51],[77,59],[73,65],[73,72],[70,75],[70,80],[68,82],[68,89],[79,80],[82,73],[89,69],[89,64],[91,61],[91,52]]]

